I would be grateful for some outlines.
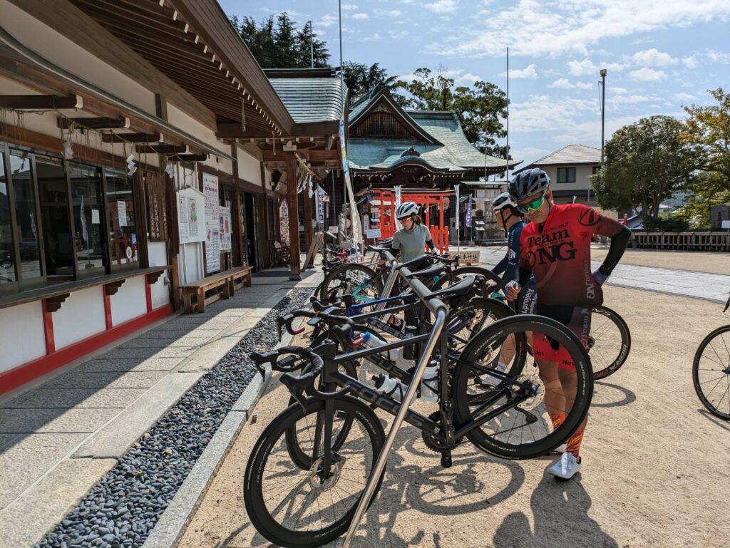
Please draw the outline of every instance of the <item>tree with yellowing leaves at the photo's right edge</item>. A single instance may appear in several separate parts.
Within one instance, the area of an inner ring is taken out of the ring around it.
[[[730,190],[730,93],[723,88],[709,93],[717,104],[684,107],[688,118],[682,137],[699,153],[701,169],[721,174],[724,182],[717,181]]]

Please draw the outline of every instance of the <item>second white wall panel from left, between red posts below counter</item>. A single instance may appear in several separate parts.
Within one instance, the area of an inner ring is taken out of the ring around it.
[[[53,312],[56,350],[106,330],[103,287],[97,285],[74,291],[64,304],[61,304],[61,308]]]

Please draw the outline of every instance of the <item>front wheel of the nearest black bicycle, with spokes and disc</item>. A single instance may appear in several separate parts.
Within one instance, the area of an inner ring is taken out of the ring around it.
[[[279,546],[315,548],[345,533],[383,449],[385,433],[372,409],[350,396],[333,403],[332,440],[339,437],[343,417],[351,420],[347,439],[339,440],[337,449],[323,447],[324,428],[318,428],[317,417],[325,412],[325,401],[316,399],[307,400],[306,409],[289,406],[254,444],[243,500],[256,530]],[[296,428],[301,447],[310,454],[312,466],[307,470],[296,466],[288,454],[290,428]],[[327,469],[326,451],[331,458]]]

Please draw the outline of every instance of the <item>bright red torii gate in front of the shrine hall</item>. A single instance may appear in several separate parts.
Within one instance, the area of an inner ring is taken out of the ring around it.
[[[398,230],[396,224],[396,193],[393,190],[375,188],[370,190],[372,202],[377,204],[380,213],[380,238],[391,238]],[[401,190],[401,201],[415,201],[416,204],[425,209],[423,223],[429,227],[431,237],[439,252],[449,250],[449,227],[444,223],[445,212],[447,212],[451,190]],[[437,207],[438,220],[431,223],[431,207]],[[375,239],[372,239],[375,240]]]

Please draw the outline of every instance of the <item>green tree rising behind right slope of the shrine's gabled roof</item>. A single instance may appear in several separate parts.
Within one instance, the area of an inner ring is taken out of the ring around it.
[[[399,88],[407,92],[401,96],[401,106],[422,110],[453,110],[464,128],[469,142],[477,144],[487,154],[504,158],[504,147],[496,144],[507,133],[502,120],[507,117],[507,95],[491,82],[477,81],[468,86],[456,86],[453,78],[445,76],[439,67],[420,68],[410,82],[400,82]]]

